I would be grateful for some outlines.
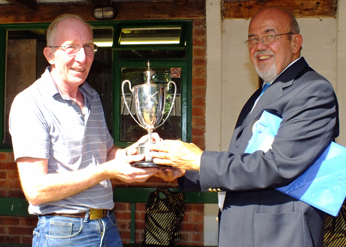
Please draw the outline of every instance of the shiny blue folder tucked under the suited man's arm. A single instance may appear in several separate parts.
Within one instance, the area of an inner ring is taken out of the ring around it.
[[[281,118],[264,111],[245,153],[269,150],[280,123]],[[277,190],[337,216],[346,198],[346,148],[332,142],[300,177]]]

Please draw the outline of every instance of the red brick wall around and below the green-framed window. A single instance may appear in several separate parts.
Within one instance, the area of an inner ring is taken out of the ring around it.
[[[192,68],[192,142],[205,147],[205,95],[206,95],[206,21],[193,20],[193,68]],[[116,179],[113,186],[177,187],[176,181],[164,182],[152,177],[145,183],[126,184]],[[20,187],[17,165],[13,153],[0,153],[0,197],[24,198]],[[130,243],[130,204],[116,203],[115,213],[124,243]],[[136,204],[135,242],[140,243],[144,234],[145,204]],[[178,245],[203,245],[204,205],[185,205],[185,216],[180,227],[183,239]],[[37,217],[0,216],[0,243],[31,243]]]

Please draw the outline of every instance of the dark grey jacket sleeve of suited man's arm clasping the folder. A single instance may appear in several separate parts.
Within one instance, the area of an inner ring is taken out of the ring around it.
[[[337,122],[337,101],[331,84],[317,77],[282,97],[285,100],[278,99],[263,109],[282,113],[272,148],[252,154],[203,152],[202,191],[216,188],[237,192],[284,186],[300,176],[328,147]]]

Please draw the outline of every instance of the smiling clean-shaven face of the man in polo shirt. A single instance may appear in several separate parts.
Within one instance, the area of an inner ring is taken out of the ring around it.
[[[75,18],[64,19],[56,27],[54,43],[52,46],[65,46],[67,44],[92,44],[90,28]],[[43,51],[48,62],[51,64],[50,74],[58,86],[74,89],[78,88],[85,80],[90,71],[94,54],[85,53],[81,48],[75,56],[69,56],[62,48],[45,47]]]

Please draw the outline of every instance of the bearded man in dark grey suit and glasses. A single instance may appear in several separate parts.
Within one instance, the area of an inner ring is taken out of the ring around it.
[[[178,178],[185,191],[226,192],[219,213],[220,247],[322,247],[325,213],[275,188],[300,176],[338,136],[335,92],[300,57],[303,38],[286,10],[259,10],[245,43],[259,76],[270,86],[244,105],[228,152],[165,140],[152,156],[174,168],[157,175]],[[271,149],[244,153],[264,110],[282,118]]]

